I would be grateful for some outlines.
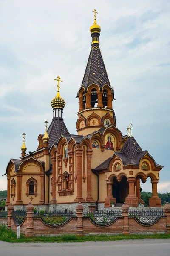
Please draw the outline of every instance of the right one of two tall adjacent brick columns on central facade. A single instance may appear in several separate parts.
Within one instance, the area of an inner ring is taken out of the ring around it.
[[[94,201],[91,196],[91,157],[93,150],[87,150],[87,198],[86,201]]]

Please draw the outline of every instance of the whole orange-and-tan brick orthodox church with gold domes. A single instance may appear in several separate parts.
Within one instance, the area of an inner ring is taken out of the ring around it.
[[[114,90],[100,50],[101,27],[96,23],[96,10],[93,12],[90,55],[77,88],[77,134],[70,134],[64,123],[65,100],[57,76],[57,95],[51,101],[53,118],[48,129],[45,121],[45,134],[38,135],[37,149],[26,153],[23,134],[21,157],[11,158],[7,165],[6,205],[23,209],[31,201],[39,209],[65,210],[82,202],[86,209],[93,203],[104,209],[111,207],[111,202],[120,205],[126,201],[137,207],[142,203],[140,183],[150,177],[150,207],[161,206],[157,184],[163,166],[142,150],[131,126],[126,135],[116,126]]]

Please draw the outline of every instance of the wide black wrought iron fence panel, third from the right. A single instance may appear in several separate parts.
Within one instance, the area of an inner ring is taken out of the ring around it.
[[[41,218],[46,224],[51,225],[51,226],[57,226],[65,223],[68,221],[69,218],[75,218],[76,217],[76,212],[51,212],[51,211],[39,211],[39,212],[34,212],[34,217],[36,218]]]

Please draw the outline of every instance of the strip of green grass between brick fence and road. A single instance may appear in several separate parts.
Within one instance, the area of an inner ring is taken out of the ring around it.
[[[12,230],[7,230],[6,226],[0,226],[0,240],[11,243],[22,242],[43,242],[43,243],[60,243],[60,242],[85,242],[85,241],[116,241],[116,240],[128,240],[128,239],[170,239],[170,234],[155,234],[155,235],[88,235],[88,236],[76,236],[74,234],[66,234],[61,236],[36,236],[32,238],[26,238],[20,234],[20,239],[17,239],[17,235]]]

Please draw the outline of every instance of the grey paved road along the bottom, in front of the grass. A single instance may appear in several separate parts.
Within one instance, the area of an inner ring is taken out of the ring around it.
[[[0,256],[170,256],[170,239],[83,243],[6,243]]]

